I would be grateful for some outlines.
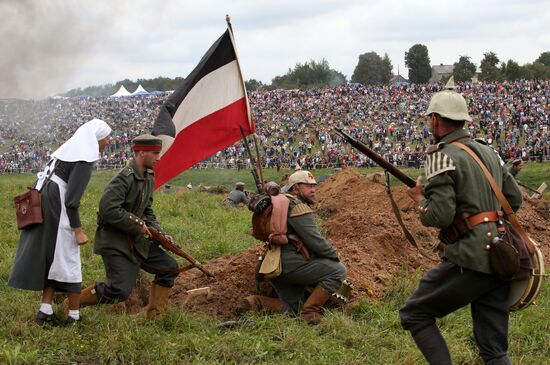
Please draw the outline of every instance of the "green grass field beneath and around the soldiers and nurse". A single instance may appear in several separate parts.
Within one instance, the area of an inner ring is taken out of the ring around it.
[[[550,176],[550,164],[527,165],[519,178],[537,187]],[[363,172],[372,172],[365,170]],[[265,171],[279,180],[289,171]],[[316,176],[331,171],[316,171]],[[408,171],[416,176],[419,171]],[[93,238],[95,212],[103,187],[113,172],[94,173],[82,199],[85,232]],[[232,187],[243,180],[253,187],[247,170],[190,170],[174,186],[191,183]],[[423,364],[424,360],[398,320],[397,311],[414,290],[420,273],[394,278],[383,301],[361,300],[345,312],[328,313],[316,327],[284,315],[249,314],[246,324],[218,329],[214,318],[190,315],[170,307],[157,321],[140,315],[114,314],[106,307],[82,310],[84,322],[73,328],[42,329],[33,323],[40,295],[7,286],[18,241],[11,198],[33,182],[31,175],[0,176],[0,364]],[[548,198],[548,194],[546,194]],[[250,213],[229,209],[222,196],[202,193],[156,193],[159,221],[191,255],[207,260],[234,254],[256,244],[248,235]],[[548,244],[548,243],[545,243]],[[92,244],[82,248],[84,284],[104,278]],[[404,271],[405,272],[405,271]],[[536,306],[513,313],[510,354],[514,364],[550,364],[550,294]],[[481,364],[471,333],[469,309],[439,321],[456,364]]]

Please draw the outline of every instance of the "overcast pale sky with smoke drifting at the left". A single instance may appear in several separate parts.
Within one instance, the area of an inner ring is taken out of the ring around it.
[[[0,0],[0,98],[40,98],[122,79],[185,77],[231,16],[245,79],[270,83],[325,58],[428,47],[433,64],[493,51],[520,65],[550,51],[548,0]],[[133,90],[129,90],[132,92]]]

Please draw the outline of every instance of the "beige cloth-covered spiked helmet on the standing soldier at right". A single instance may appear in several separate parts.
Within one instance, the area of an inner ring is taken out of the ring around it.
[[[432,113],[437,113],[442,117],[452,120],[467,120],[472,121],[472,118],[468,114],[468,106],[466,100],[454,91],[454,77],[451,76],[445,90],[435,93],[431,100],[428,110],[424,113],[424,116],[430,116]]]

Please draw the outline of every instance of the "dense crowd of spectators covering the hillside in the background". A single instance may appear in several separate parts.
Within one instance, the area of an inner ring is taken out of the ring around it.
[[[344,127],[387,160],[420,167],[430,145],[422,116],[440,84],[362,86],[249,93],[266,167],[373,166],[334,132]],[[507,161],[550,159],[550,81],[460,84],[474,121],[474,137],[485,139]],[[0,101],[0,172],[37,171],[49,153],[84,122],[99,118],[113,128],[112,143],[98,168],[121,167],[131,156],[128,141],[149,132],[167,96]],[[243,168],[242,143],[196,167]]]

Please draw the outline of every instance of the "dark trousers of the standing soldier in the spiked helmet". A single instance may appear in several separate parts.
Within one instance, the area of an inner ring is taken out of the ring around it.
[[[485,363],[511,364],[507,355],[509,290],[509,283],[496,275],[483,274],[445,261],[429,270],[420,280],[416,291],[399,311],[401,325],[411,332],[430,361],[431,354],[441,354],[446,350],[435,318],[470,304],[474,337]],[[421,339],[426,333],[431,333],[431,345]],[[434,343],[439,343],[440,348],[433,346]]]

